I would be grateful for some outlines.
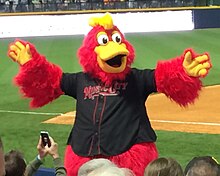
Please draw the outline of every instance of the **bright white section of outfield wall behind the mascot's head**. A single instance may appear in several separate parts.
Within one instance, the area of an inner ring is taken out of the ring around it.
[[[57,36],[86,34],[93,14],[1,16],[0,37]],[[114,24],[123,33],[192,30],[192,11],[113,13]]]

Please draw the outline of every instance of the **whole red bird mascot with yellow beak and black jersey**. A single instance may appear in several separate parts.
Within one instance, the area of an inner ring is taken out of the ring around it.
[[[65,152],[68,176],[77,176],[83,163],[100,157],[143,176],[146,165],[158,157],[147,97],[160,92],[180,106],[193,103],[202,87],[200,78],[211,68],[209,55],[186,49],[181,56],[158,62],[155,69],[131,68],[134,48],[111,15],[91,18],[89,24],[92,29],[78,50],[83,72],[63,73],[31,43],[16,40],[8,51],[20,64],[15,83],[34,108],[61,95],[76,99],[76,120]]]

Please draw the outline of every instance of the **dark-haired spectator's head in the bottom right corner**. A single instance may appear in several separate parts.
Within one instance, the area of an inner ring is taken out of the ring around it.
[[[194,157],[184,173],[186,176],[220,176],[220,165],[211,156]]]

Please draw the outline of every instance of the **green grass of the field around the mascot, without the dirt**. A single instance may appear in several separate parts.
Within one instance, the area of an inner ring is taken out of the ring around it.
[[[126,34],[126,38],[136,50],[133,66],[137,68],[154,68],[157,60],[178,56],[186,48],[193,48],[198,53],[207,51],[211,56],[213,68],[203,79],[203,83],[205,86],[220,84],[220,29]],[[45,55],[49,61],[60,65],[64,72],[81,70],[76,52],[83,36],[22,39],[32,42],[38,52]],[[30,109],[29,101],[21,97],[18,88],[12,83],[19,69],[18,65],[7,57],[8,45],[12,41],[14,38],[0,39],[0,135],[4,141],[5,152],[19,149],[24,152],[27,161],[32,160],[37,154],[36,144],[40,130],[48,130],[59,143],[60,154],[63,157],[71,125],[41,122],[54,116],[47,113],[75,110],[75,101],[70,97],[62,96],[42,108]],[[160,156],[174,157],[183,167],[197,155],[212,155],[220,160],[220,135],[167,131],[156,131],[156,133]],[[52,167],[49,157],[44,166]]]

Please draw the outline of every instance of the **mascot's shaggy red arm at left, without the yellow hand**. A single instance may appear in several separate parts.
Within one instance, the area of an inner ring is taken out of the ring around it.
[[[40,55],[35,47],[30,45],[32,58],[20,66],[19,73],[14,78],[14,83],[20,87],[21,93],[26,98],[31,98],[30,107],[41,107],[63,94],[60,88],[62,70],[49,63]]]

